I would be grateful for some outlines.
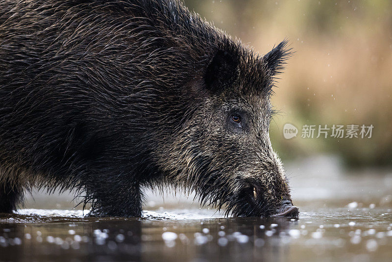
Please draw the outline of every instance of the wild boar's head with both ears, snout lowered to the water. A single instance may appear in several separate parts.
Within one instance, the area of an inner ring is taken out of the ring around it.
[[[269,136],[272,87],[291,54],[286,45],[264,56],[236,46],[211,54],[194,87],[194,113],[161,155],[169,183],[227,215],[298,214]]]

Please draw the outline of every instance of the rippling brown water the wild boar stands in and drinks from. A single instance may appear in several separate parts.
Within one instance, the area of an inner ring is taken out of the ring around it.
[[[39,209],[0,214],[0,261],[391,261],[391,171],[287,168],[298,219],[222,218],[154,195],[142,218],[85,218],[36,195],[26,206]]]

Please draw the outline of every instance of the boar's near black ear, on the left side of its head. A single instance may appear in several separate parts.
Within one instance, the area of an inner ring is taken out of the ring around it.
[[[226,51],[218,51],[207,66],[204,76],[208,90],[217,91],[228,86],[237,78],[239,59]]]

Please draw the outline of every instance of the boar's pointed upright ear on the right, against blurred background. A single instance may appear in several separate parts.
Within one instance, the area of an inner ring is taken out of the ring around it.
[[[284,40],[263,56],[263,64],[267,67],[267,70],[270,71],[271,75],[281,73],[285,61],[293,54],[293,52],[290,52],[291,48],[287,48],[287,44],[288,41]]]

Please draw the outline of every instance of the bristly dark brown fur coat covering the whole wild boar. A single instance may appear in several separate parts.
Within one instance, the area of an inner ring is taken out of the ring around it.
[[[273,214],[292,202],[268,135],[286,46],[259,56],[176,0],[2,0],[0,212],[38,186],[140,216],[142,188],[171,184]]]

